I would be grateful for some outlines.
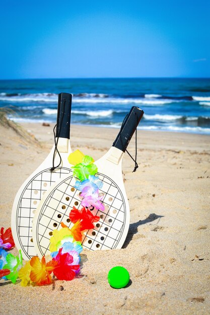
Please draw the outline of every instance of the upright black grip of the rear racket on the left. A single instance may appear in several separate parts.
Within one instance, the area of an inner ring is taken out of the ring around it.
[[[70,138],[72,94],[58,94],[56,137]]]

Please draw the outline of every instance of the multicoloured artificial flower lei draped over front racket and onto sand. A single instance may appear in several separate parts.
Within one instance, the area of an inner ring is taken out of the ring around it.
[[[76,181],[75,188],[81,191],[81,209],[73,207],[69,213],[69,219],[74,223],[68,228],[61,222],[61,229],[53,230],[50,238],[51,260],[46,262],[43,256],[40,260],[37,256],[23,266],[21,250],[19,255],[14,256],[8,253],[15,247],[11,227],[4,232],[1,228],[0,234],[0,279],[9,279],[16,283],[17,278],[21,279],[21,285],[35,284],[38,286],[52,283],[52,276],[59,280],[73,280],[80,272],[80,253],[82,252],[83,232],[94,228],[95,222],[100,217],[93,215],[90,211],[96,209],[104,210],[99,196],[99,189],[103,183],[95,176],[97,167],[91,156],[84,155],[76,150],[68,156],[68,161],[73,167],[73,175],[80,181]]]

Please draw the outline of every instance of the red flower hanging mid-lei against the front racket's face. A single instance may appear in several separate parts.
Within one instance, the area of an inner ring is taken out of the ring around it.
[[[98,222],[100,217],[97,215],[93,215],[90,210],[83,207],[81,210],[73,207],[73,210],[69,213],[69,219],[76,223],[77,221],[81,221],[81,231],[85,229],[94,228],[94,222]]]

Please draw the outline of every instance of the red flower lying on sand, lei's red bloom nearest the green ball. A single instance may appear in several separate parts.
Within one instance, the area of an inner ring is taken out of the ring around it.
[[[57,262],[53,273],[59,280],[73,280],[76,272],[75,270],[80,269],[80,265],[71,265],[74,262],[72,255],[65,253],[61,254],[62,248],[59,249],[59,252],[53,261]]]

